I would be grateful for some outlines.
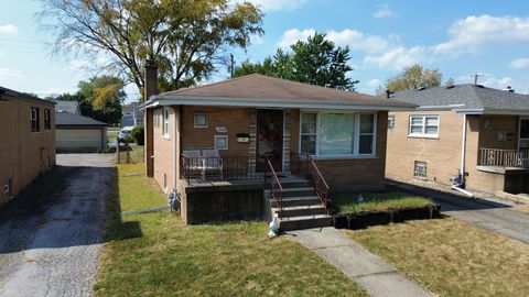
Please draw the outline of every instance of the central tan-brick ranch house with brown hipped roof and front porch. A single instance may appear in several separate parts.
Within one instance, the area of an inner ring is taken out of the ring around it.
[[[283,220],[303,213],[282,200],[314,197],[320,177],[331,191],[384,189],[388,110],[412,107],[257,74],[148,98],[147,175],[177,189],[186,223],[262,217],[267,173]]]

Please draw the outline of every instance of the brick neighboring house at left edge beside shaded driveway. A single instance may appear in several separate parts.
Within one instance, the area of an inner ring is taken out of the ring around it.
[[[55,164],[55,103],[0,87],[0,205]]]

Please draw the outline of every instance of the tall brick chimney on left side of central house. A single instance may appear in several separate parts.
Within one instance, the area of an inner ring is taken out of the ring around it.
[[[158,95],[158,66],[154,59],[145,61],[145,69],[143,73],[143,100],[147,102],[153,95]],[[152,108],[145,108],[143,112],[144,125],[144,158],[145,158],[145,174],[148,177],[154,176],[154,113]]]

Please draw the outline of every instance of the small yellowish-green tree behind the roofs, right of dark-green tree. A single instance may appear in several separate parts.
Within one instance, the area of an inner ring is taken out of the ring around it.
[[[400,91],[407,89],[419,89],[441,86],[442,75],[439,69],[425,69],[415,64],[404,68],[397,76],[388,78],[386,89],[390,91]]]

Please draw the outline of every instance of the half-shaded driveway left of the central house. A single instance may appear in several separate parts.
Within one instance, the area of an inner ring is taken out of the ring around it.
[[[57,166],[0,212],[0,296],[90,296],[102,252],[111,156]]]

